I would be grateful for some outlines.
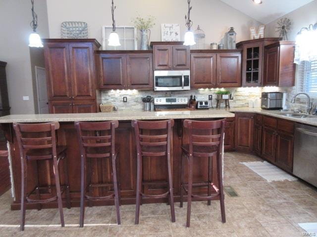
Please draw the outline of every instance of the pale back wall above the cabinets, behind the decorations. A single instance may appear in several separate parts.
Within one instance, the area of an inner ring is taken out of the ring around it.
[[[111,0],[47,0],[50,38],[60,38],[63,21],[85,21],[88,23],[89,38],[102,43],[102,26],[112,24]],[[114,0],[116,25],[132,25],[131,18],[152,15],[156,25],[151,29],[151,41],[160,41],[161,23],[179,23],[181,40],[187,13],[186,0]],[[237,32],[237,41],[249,39],[249,28],[260,23],[219,0],[192,0],[191,20],[193,29],[200,25],[206,34],[206,45],[219,43],[229,27]],[[140,40],[139,40],[140,41]]]

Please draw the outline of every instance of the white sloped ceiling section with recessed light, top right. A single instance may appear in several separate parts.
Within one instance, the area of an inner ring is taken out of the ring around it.
[[[255,4],[252,0],[220,0],[233,8],[267,24],[314,0],[262,0]]]

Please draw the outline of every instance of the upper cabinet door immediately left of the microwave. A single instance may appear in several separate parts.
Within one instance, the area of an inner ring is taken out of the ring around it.
[[[127,55],[128,88],[153,88],[153,54]]]

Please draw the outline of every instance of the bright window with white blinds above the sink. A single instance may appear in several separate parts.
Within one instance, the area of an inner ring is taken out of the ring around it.
[[[296,90],[317,97],[317,60],[302,61],[297,68]]]

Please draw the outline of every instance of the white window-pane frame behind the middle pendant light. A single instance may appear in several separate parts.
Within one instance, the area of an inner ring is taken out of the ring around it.
[[[134,26],[115,26],[118,33],[120,46],[108,46],[112,26],[103,26],[103,50],[137,50],[137,29]]]

